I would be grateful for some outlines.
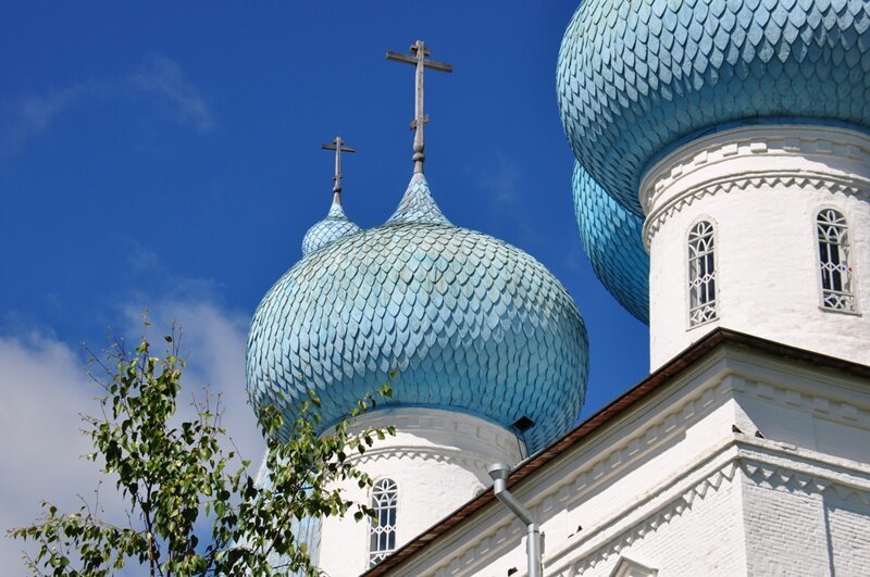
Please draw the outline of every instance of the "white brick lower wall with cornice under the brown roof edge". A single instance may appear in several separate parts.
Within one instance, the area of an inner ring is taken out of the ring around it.
[[[870,379],[726,343],[512,492],[547,576],[862,575],[868,457]],[[523,577],[523,548],[493,502],[389,575]]]

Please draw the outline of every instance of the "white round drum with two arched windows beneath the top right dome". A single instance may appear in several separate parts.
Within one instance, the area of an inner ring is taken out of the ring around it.
[[[650,256],[650,365],[717,326],[870,364],[870,137],[835,126],[758,125],[701,137],[639,188]],[[858,314],[820,309],[815,218],[849,225]],[[718,318],[688,327],[686,235],[716,225]]]

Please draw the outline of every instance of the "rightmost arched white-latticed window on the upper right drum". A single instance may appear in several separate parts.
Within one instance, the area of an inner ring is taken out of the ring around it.
[[[849,230],[846,217],[833,209],[819,211],[819,267],[822,280],[822,309],[855,312],[855,290],[849,264]]]

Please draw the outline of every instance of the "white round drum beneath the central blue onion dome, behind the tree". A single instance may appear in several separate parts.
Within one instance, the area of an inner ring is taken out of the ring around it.
[[[492,484],[486,468],[517,464],[524,448],[512,432],[464,413],[420,407],[387,407],[363,415],[349,428],[396,427],[396,436],[376,441],[353,464],[377,479],[398,485],[397,547],[434,525]],[[345,496],[368,502],[353,484]],[[320,566],[333,577],[369,568],[369,522],[352,516],[324,517]]]

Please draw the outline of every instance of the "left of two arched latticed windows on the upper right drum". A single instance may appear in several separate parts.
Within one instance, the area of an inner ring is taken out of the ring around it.
[[[716,312],[713,225],[695,224],[688,231],[688,326],[712,321]]]

